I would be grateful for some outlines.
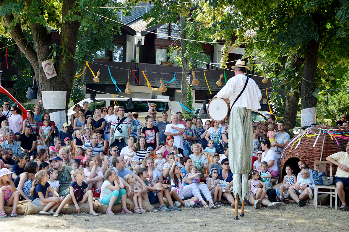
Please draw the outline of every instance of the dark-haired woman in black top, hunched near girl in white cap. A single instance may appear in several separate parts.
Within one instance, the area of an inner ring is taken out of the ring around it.
[[[13,181],[21,198],[31,201],[29,199],[29,192],[33,181],[35,180],[35,173],[39,171],[39,166],[35,161],[29,161],[24,166],[24,172],[17,176]]]

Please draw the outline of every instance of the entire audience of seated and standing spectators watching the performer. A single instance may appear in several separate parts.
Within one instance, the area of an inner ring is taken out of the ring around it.
[[[40,114],[39,105],[23,121],[19,108],[12,106],[8,111],[8,102],[3,102],[0,217],[7,216],[4,206],[13,206],[10,216],[17,216],[20,200],[45,206],[39,214],[55,217],[66,204],[75,205],[79,213],[79,204],[84,202],[89,204],[89,214],[98,216],[93,210],[94,201],[107,205],[108,215],[114,214],[112,207],[120,201],[121,213],[133,214],[126,207],[127,197],[134,202],[135,214],[146,213],[142,199],[159,203],[161,211],[200,205],[216,209],[224,205],[222,200],[235,207],[229,123],[207,120],[202,125],[201,118],[183,120],[181,112],[172,114],[171,122],[162,112],[159,121],[155,107],[150,104],[143,125],[138,113],[125,115],[122,106],[102,107],[92,115],[88,102],[84,102],[83,107],[74,107],[71,132],[64,124],[63,131],[55,135],[54,122],[48,113]],[[270,115],[268,121],[275,122],[275,116]],[[287,175],[279,195],[270,189],[270,180],[279,177],[280,154],[290,135],[282,121],[277,123],[278,132],[273,127],[268,129],[269,139],[261,140],[259,128],[253,126],[253,159],[245,201],[256,209],[261,205],[279,209],[281,202],[304,206],[305,200],[313,197],[314,182],[311,169],[302,160],[297,178],[292,166],[285,167]],[[342,203],[340,210],[346,210],[343,187],[349,185],[348,154],[349,143],[347,152],[326,158],[338,166],[335,184]],[[213,162],[208,165],[210,156]],[[205,175],[207,169],[209,174]],[[96,193],[98,200],[94,198]]]

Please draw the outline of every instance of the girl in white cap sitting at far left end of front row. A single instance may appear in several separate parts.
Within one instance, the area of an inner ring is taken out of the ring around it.
[[[6,167],[0,170],[0,217],[7,217],[4,206],[13,206],[11,217],[17,217],[17,205],[20,198],[11,174]]]

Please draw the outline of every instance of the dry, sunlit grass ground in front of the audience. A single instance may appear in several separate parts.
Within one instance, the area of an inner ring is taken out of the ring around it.
[[[240,209],[239,209],[240,214]],[[233,220],[234,210],[228,206],[219,209],[184,208],[180,212],[147,213],[141,215],[116,214],[112,216],[88,214],[52,216],[28,215],[1,218],[2,231],[57,232],[114,232],[114,231],[348,231],[349,211],[312,205],[299,207],[284,204],[279,210],[245,207],[245,217]]]

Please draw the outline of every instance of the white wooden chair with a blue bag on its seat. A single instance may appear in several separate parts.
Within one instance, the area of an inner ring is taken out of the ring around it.
[[[326,174],[326,177],[332,177],[332,163],[328,162],[328,161],[320,161],[320,160],[316,160],[314,161],[314,170],[316,170],[316,164],[319,164],[319,172],[324,171]],[[329,164],[329,173],[327,173],[327,164]],[[329,174],[329,176],[327,176],[327,174]],[[324,192],[324,191],[319,191],[320,189],[328,189],[329,192]],[[332,192],[334,189],[334,192]],[[313,205],[316,208],[318,208],[318,194],[329,194],[329,207],[332,208],[332,197],[334,197],[334,205],[335,205],[335,209],[338,208],[338,204],[337,204],[337,186],[335,185],[315,185],[314,184],[314,201],[313,201]]]

